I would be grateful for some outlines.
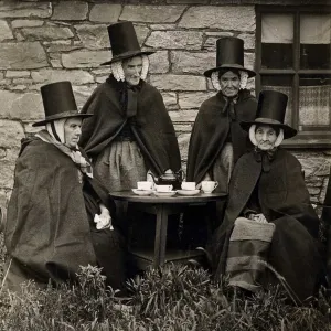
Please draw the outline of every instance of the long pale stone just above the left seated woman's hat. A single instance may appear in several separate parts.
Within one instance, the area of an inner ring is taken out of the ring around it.
[[[70,81],[75,85],[94,83],[93,75],[82,70],[64,71],[44,68],[38,72],[32,72],[31,76],[33,82],[38,84],[55,83],[60,81]]]

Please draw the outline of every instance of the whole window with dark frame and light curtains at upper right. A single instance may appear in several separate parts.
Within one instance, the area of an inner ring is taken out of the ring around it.
[[[288,147],[331,147],[331,8],[257,7],[256,90],[289,96]]]

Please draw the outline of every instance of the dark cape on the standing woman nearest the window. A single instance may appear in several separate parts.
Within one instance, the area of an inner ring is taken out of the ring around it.
[[[220,154],[232,129],[232,142],[235,161],[247,150],[247,132],[242,130],[239,121],[254,120],[257,102],[249,90],[239,90],[235,104],[236,120],[231,126],[226,100],[218,92],[206,99],[196,116],[189,147],[188,180],[200,182]],[[223,111],[224,110],[224,111]]]

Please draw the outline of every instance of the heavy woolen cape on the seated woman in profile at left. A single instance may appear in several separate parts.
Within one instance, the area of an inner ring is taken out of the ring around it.
[[[89,190],[96,188],[94,194],[111,210],[95,183]],[[94,206],[85,204],[82,188],[75,163],[55,146],[36,138],[22,145],[4,229],[12,259],[8,288],[19,290],[28,279],[75,279],[81,265],[97,265],[86,212]]]

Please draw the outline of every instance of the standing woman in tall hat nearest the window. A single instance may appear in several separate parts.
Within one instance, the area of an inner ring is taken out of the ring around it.
[[[255,72],[244,67],[244,41],[233,36],[218,39],[216,67],[204,75],[211,78],[217,94],[201,105],[196,116],[189,146],[188,181],[217,181],[216,192],[227,193],[234,164],[248,147],[239,121],[253,120],[257,107],[256,98],[246,89],[247,79]],[[218,220],[223,218],[223,205],[217,206]],[[196,236],[202,222],[202,216],[196,215],[185,222],[184,241]],[[203,245],[205,239],[202,235],[196,245]]]

